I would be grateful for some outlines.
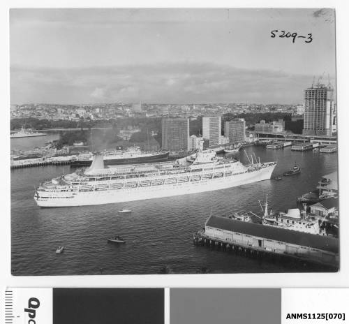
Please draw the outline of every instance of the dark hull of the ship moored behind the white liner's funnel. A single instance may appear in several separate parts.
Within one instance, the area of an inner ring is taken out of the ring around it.
[[[136,156],[125,159],[104,159],[104,165],[120,165],[120,164],[137,164],[137,163],[153,163],[168,160],[169,152],[156,154],[152,156]],[[70,165],[75,167],[90,166],[92,160],[71,160]]]

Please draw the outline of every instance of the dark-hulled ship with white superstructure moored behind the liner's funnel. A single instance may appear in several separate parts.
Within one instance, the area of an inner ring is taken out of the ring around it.
[[[103,152],[103,161],[105,165],[161,162],[167,161],[169,154],[170,152],[142,152],[140,147],[131,147],[126,151],[105,151]],[[70,159],[70,165],[90,166],[93,159],[93,153],[80,154]]]

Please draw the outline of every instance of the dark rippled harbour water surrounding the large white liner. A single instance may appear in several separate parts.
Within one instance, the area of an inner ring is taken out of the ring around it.
[[[157,274],[170,273],[302,272],[309,267],[271,263],[232,253],[194,246],[193,233],[207,217],[232,212],[260,213],[258,200],[273,209],[296,207],[296,198],[315,189],[320,177],[337,170],[336,154],[292,152],[290,147],[266,150],[247,147],[261,161],[278,161],[273,176],[289,170],[295,162],[299,175],[267,180],[223,191],[186,196],[86,207],[40,208],[34,189],[69,166],[45,166],[11,170],[12,273],[51,274]],[[235,157],[246,163],[244,152]],[[251,158],[250,158],[251,159]],[[118,214],[119,209],[131,214]],[[126,244],[108,244],[120,235]],[[64,245],[64,253],[56,254]],[[316,271],[316,268],[310,269]]]

